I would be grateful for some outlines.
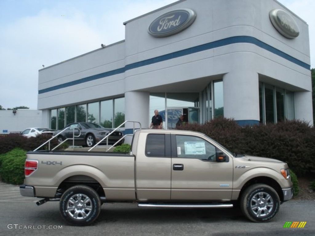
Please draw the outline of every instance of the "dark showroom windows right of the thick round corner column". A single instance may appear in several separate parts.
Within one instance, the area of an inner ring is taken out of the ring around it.
[[[294,93],[265,83],[259,83],[260,123],[293,120]]]

